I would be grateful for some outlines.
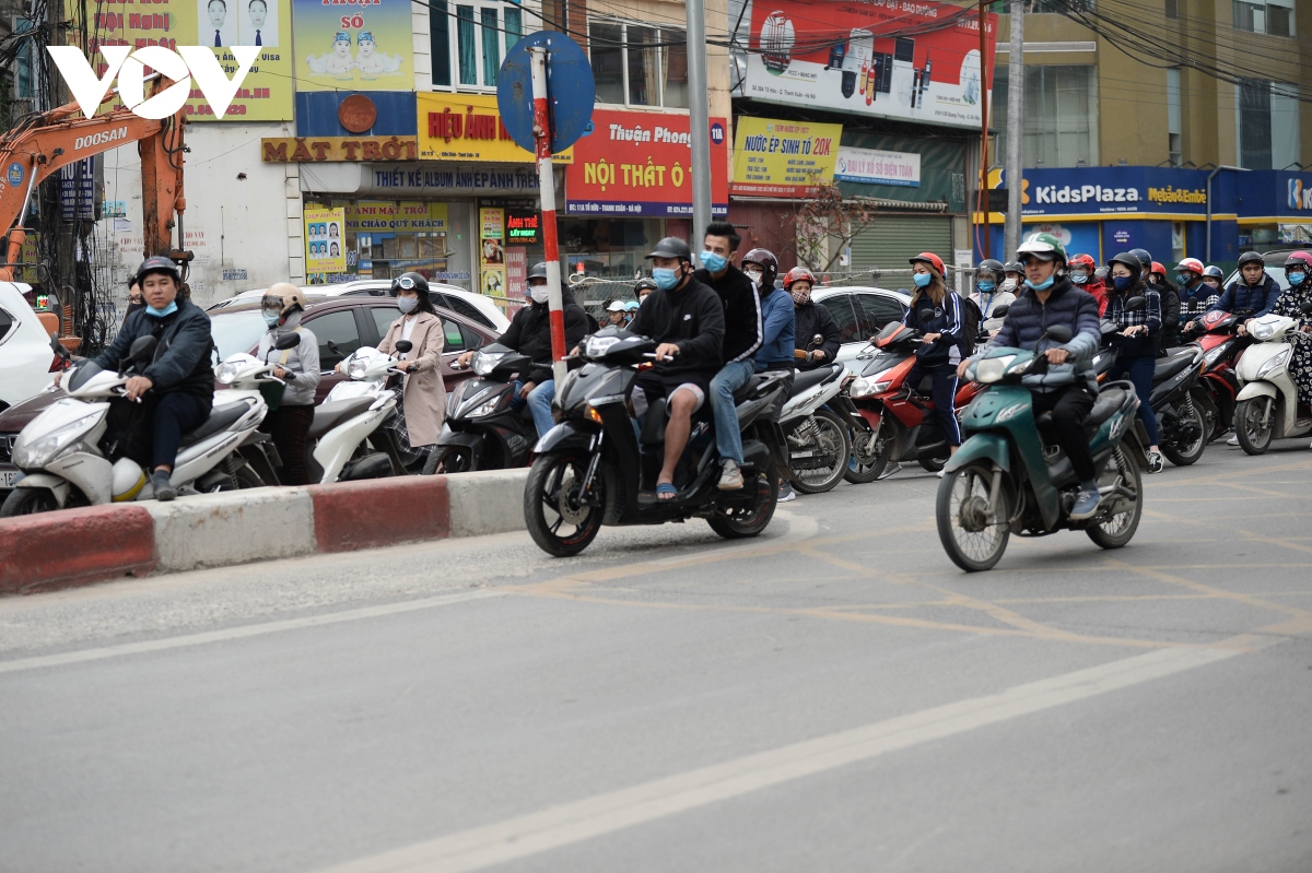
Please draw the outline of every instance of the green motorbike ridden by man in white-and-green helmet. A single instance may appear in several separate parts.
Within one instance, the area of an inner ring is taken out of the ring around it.
[[[1063,326],[1047,338],[1069,342]],[[967,378],[988,385],[962,413],[967,435],[947,463],[938,486],[938,537],[956,566],[968,573],[992,569],[1013,531],[1046,536],[1084,531],[1105,549],[1126,545],[1143,513],[1140,467],[1147,467],[1139,398],[1128,381],[1101,387],[1085,421],[1098,473],[1097,513],[1072,520],[1078,480],[1051,433],[1052,414],[1035,418],[1026,375],[1047,370],[1047,358],[1022,349],[992,349],[972,360]]]

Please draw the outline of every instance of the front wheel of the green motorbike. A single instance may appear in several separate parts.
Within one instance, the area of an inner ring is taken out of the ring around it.
[[[1004,478],[998,489],[996,513],[989,506],[992,484],[992,467],[984,463],[954,469],[938,484],[938,539],[953,564],[967,573],[993,569],[1012,536],[1009,482]]]

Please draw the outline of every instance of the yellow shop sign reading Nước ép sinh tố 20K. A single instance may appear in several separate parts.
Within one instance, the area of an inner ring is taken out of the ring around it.
[[[833,184],[842,125],[739,118],[735,194],[810,197]]]

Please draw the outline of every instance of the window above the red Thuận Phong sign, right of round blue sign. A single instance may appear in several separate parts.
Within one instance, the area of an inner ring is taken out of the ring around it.
[[[588,45],[598,104],[687,107],[687,46],[682,30],[592,21]]]

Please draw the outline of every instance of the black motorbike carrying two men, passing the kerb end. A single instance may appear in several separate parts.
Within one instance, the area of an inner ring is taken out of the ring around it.
[[[737,392],[743,430],[741,489],[716,488],[720,465],[706,418],[694,417],[687,448],[674,473],[678,494],[651,492],[664,457],[665,401],[651,404],[640,431],[630,406],[634,379],[653,358],[656,343],[617,326],[585,337],[581,367],[556,387],[560,423],[534,448],[523,490],[529,534],[544,552],[577,554],[602,524],[663,524],[705,518],[726,539],[757,536],[778,503],[779,471],[787,465],[779,413],[792,371],[757,374]]]

